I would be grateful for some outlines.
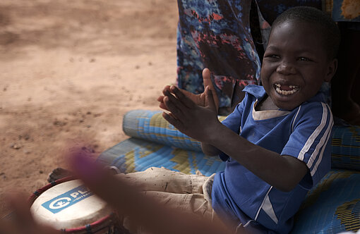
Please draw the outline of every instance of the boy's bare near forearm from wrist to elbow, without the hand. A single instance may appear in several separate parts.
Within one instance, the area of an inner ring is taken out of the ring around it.
[[[209,139],[210,144],[279,190],[289,192],[308,171],[303,161],[248,142],[221,123],[215,127],[215,132],[219,134]]]

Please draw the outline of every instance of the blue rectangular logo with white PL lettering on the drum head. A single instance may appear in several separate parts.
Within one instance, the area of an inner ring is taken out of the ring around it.
[[[92,196],[92,192],[90,192],[85,185],[80,185],[79,187],[64,192],[62,195],[54,197],[41,205],[45,209],[52,211],[53,214],[56,214],[90,196]]]

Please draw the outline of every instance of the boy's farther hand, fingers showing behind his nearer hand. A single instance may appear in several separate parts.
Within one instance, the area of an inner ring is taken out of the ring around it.
[[[210,90],[215,90],[214,85],[212,84],[211,81],[211,75],[210,75],[210,70],[208,68],[204,68],[203,70],[203,84],[204,84],[204,90],[206,89],[206,87],[210,87]],[[205,103],[205,92],[201,93],[201,94],[193,94],[191,92],[188,92],[186,90],[181,90],[179,89],[186,97],[188,97],[189,99],[191,99],[191,101],[193,101],[195,104],[197,104],[198,106],[206,106]],[[160,96],[157,98],[157,101],[160,101],[160,108],[161,109],[165,109],[167,111],[169,111],[169,109],[167,109],[167,106],[164,105],[164,97],[165,97],[165,93],[170,92],[170,85],[167,85],[164,87],[164,90],[162,90],[162,93],[164,95]],[[219,109],[219,99],[217,98],[217,94],[216,92],[212,92],[212,98],[214,99],[214,103],[216,106],[216,111]]]

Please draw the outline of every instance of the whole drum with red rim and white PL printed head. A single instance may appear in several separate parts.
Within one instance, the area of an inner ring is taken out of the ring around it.
[[[116,214],[80,180],[56,180],[30,197],[35,221],[64,233],[119,233]]]

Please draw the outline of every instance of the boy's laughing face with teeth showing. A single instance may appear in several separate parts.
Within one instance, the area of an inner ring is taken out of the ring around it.
[[[329,82],[337,66],[329,59],[323,36],[311,23],[289,20],[275,25],[266,48],[261,82],[272,102],[292,110]]]

